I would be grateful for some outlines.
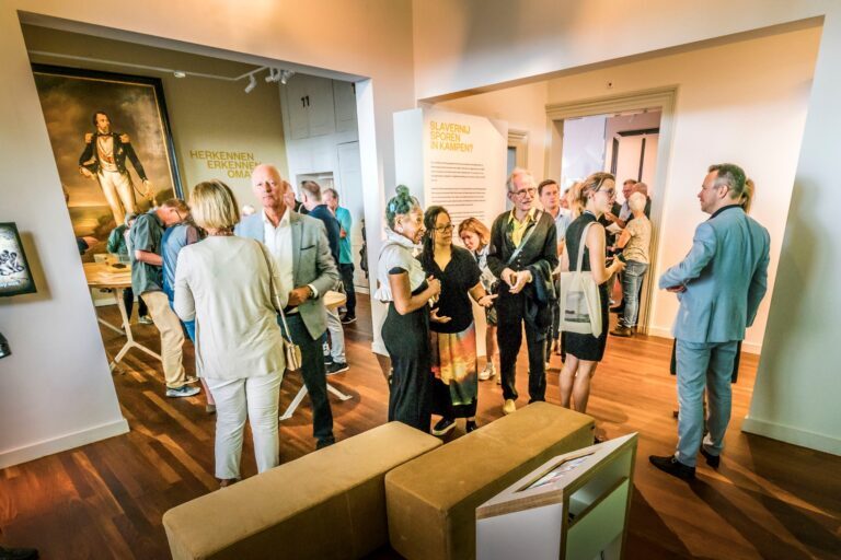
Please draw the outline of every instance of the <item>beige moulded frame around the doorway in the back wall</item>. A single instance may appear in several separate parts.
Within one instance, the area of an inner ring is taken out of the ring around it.
[[[546,148],[545,148],[545,177],[560,177],[564,140],[564,120],[576,117],[591,117],[595,115],[609,115],[626,110],[660,109],[660,138],[657,145],[657,166],[655,171],[655,184],[658,187],[657,196],[652,198],[652,245],[649,247],[650,265],[643,283],[640,301],[640,317],[637,329],[648,334],[650,308],[656,299],[652,277],[657,270],[657,247],[660,240],[660,225],[663,223],[663,209],[666,191],[666,178],[668,176],[669,156],[671,153],[672,132],[675,128],[675,106],[678,96],[678,86],[668,85],[652,90],[622,93],[604,97],[592,97],[567,103],[552,103],[546,105]]]

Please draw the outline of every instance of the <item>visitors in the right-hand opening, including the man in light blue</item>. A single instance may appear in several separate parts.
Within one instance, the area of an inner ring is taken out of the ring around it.
[[[625,180],[622,194],[619,205],[610,173],[594,173],[562,194],[555,180],[535,184],[528,171],[517,168],[506,184],[510,210],[489,229],[475,218],[456,228],[446,208],[424,211],[399,186],[387,203],[375,294],[389,306],[382,327],[391,359],[389,420],[429,431],[431,417],[440,416],[431,433],[443,435],[456,418],[465,418],[465,431],[475,430],[477,382],[496,376],[497,347],[502,410],[515,412],[523,331],[529,402],[545,400],[554,351],[564,363],[561,405],[585,412],[590,381],[607,348],[609,311],[620,314],[610,335],[635,336],[650,264],[647,185]],[[699,226],[687,258],[659,280],[681,303],[675,329],[681,411],[677,453],[652,456],[650,462],[679,478],[694,477],[699,452],[718,466],[737,343],[765,292],[769,238],[747,217],[752,196],[753,183],[740,167],[711,166],[699,194],[701,209],[711,218]],[[464,248],[453,245],[453,230]],[[739,271],[737,262],[744,265]],[[572,319],[561,289],[564,272],[588,276],[596,287],[594,301],[587,302],[590,326],[585,331],[567,328]],[[622,303],[610,308],[617,279]],[[482,372],[471,299],[484,307],[487,324]],[[705,385],[708,433],[702,444]]]

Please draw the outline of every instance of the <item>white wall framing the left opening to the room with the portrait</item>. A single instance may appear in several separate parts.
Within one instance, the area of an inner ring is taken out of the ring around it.
[[[0,303],[0,329],[14,352],[0,361],[0,465],[125,430],[58,188],[18,10],[49,16],[48,23],[62,27],[73,27],[73,22],[97,25],[95,34],[141,44],[172,47],[178,40],[183,50],[197,54],[224,49],[234,59],[256,56],[371,78],[359,83],[357,103],[366,225],[375,256],[382,191],[394,179],[391,114],[414,106],[407,0],[320,0],[306,9],[291,0],[247,7],[223,0],[116,7],[105,0],[0,3],[0,62],[5,71],[0,89],[0,221],[18,222],[30,258],[42,268],[37,295]],[[81,31],[91,33],[88,25]]]

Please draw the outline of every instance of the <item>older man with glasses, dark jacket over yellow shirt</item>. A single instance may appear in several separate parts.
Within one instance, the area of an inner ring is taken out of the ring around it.
[[[516,363],[526,325],[529,352],[529,401],[545,400],[545,345],[552,322],[549,294],[553,292],[552,270],[557,267],[557,234],[552,217],[534,208],[538,189],[531,174],[511,172],[506,182],[514,203],[491,228],[487,266],[498,277],[497,342],[503,381],[503,412],[517,409]],[[553,296],[553,294],[552,294]]]

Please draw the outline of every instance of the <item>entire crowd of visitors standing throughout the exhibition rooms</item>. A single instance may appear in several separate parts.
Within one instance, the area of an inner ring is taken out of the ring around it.
[[[258,470],[278,463],[278,397],[290,348],[300,350],[316,448],[335,442],[326,375],[348,369],[343,324],[356,320],[352,219],[338,194],[306,180],[298,201],[277,168],[265,164],[254,170],[252,186],[260,209],[250,215],[241,215],[227,185],[205,182],[193,188],[189,206],[172,199],[129,214],[110,244],[129,255],[133,293],[160,331],[169,397],[200,392],[182,363],[185,332],[195,345],[207,410],[217,415],[216,476],[222,486],[240,478],[246,419]],[[399,186],[385,206],[375,271],[375,298],[388,305],[388,419],[435,435],[464,419],[472,432],[479,428],[479,382],[493,377],[502,385],[502,411],[515,412],[523,331],[529,402],[545,400],[549,360],[556,353],[563,361],[561,405],[586,411],[607,348],[614,281],[621,282],[622,303],[612,308],[621,316],[610,334],[633,337],[650,264],[647,186],[626,180],[622,192],[618,205],[610,173],[594,173],[562,192],[555,180],[537,184],[517,168],[506,183],[511,208],[488,228],[475,218],[456,224],[446,208],[424,209]],[[768,232],[746,215],[752,195],[753,184],[738,166],[712,166],[699,195],[712,218],[699,226],[687,259],[659,281],[681,302],[675,331],[681,411],[678,452],[652,463],[681,478],[694,476],[699,450],[717,466],[735,345],[764,295]],[[738,210],[723,213],[731,208]],[[594,285],[585,330],[569,328],[565,273]],[[347,294],[344,315],[325,307],[331,290]],[[481,371],[473,302],[487,325]],[[702,445],[705,384],[710,418]],[[440,417],[434,425],[433,416]]]

